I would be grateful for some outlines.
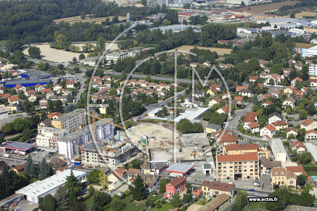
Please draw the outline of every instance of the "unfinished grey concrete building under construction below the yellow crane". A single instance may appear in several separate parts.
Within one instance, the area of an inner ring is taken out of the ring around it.
[[[117,167],[133,158],[139,149],[131,141],[108,140],[105,142],[89,142],[80,146],[81,163],[87,165],[105,165]]]

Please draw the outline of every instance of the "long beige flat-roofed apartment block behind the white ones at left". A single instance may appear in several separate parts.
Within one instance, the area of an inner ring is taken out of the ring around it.
[[[65,115],[52,120],[52,125],[56,128],[67,129],[74,132],[87,125],[87,116],[85,109],[76,109]]]

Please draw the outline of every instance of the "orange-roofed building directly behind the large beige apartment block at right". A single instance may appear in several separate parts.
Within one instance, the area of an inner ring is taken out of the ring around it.
[[[259,147],[257,144],[229,144],[223,146],[223,155],[240,155],[256,152],[259,157],[269,159],[270,151],[266,147]]]

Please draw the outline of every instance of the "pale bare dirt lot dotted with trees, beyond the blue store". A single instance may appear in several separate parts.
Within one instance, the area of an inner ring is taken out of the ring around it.
[[[93,43],[92,43],[93,44]],[[110,43],[106,43],[106,49]],[[74,46],[83,46],[85,45],[84,43],[81,44],[74,44]],[[95,44],[93,44],[95,45]],[[49,45],[38,45],[36,47],[39,47],[41,50],[41,59],[46,59],[49,61],[55,61],[55,62],[67,62],[71,61],[73,57],[76,57],[78,59],[80,53],[73,53],[73,52],[68,52],[68,51],[63,51],[63,50],[57,50],[54,48],[49,47]],[[116,49],[118,48],[117,44],[113,44],[110,49]],[[25,49],[23,51],[24,54],[29,55],[28,53],[29,48]],[[82,50],[82,49],[81,49]],[[88,53],[84,53],[85,56],[87,56]]]

